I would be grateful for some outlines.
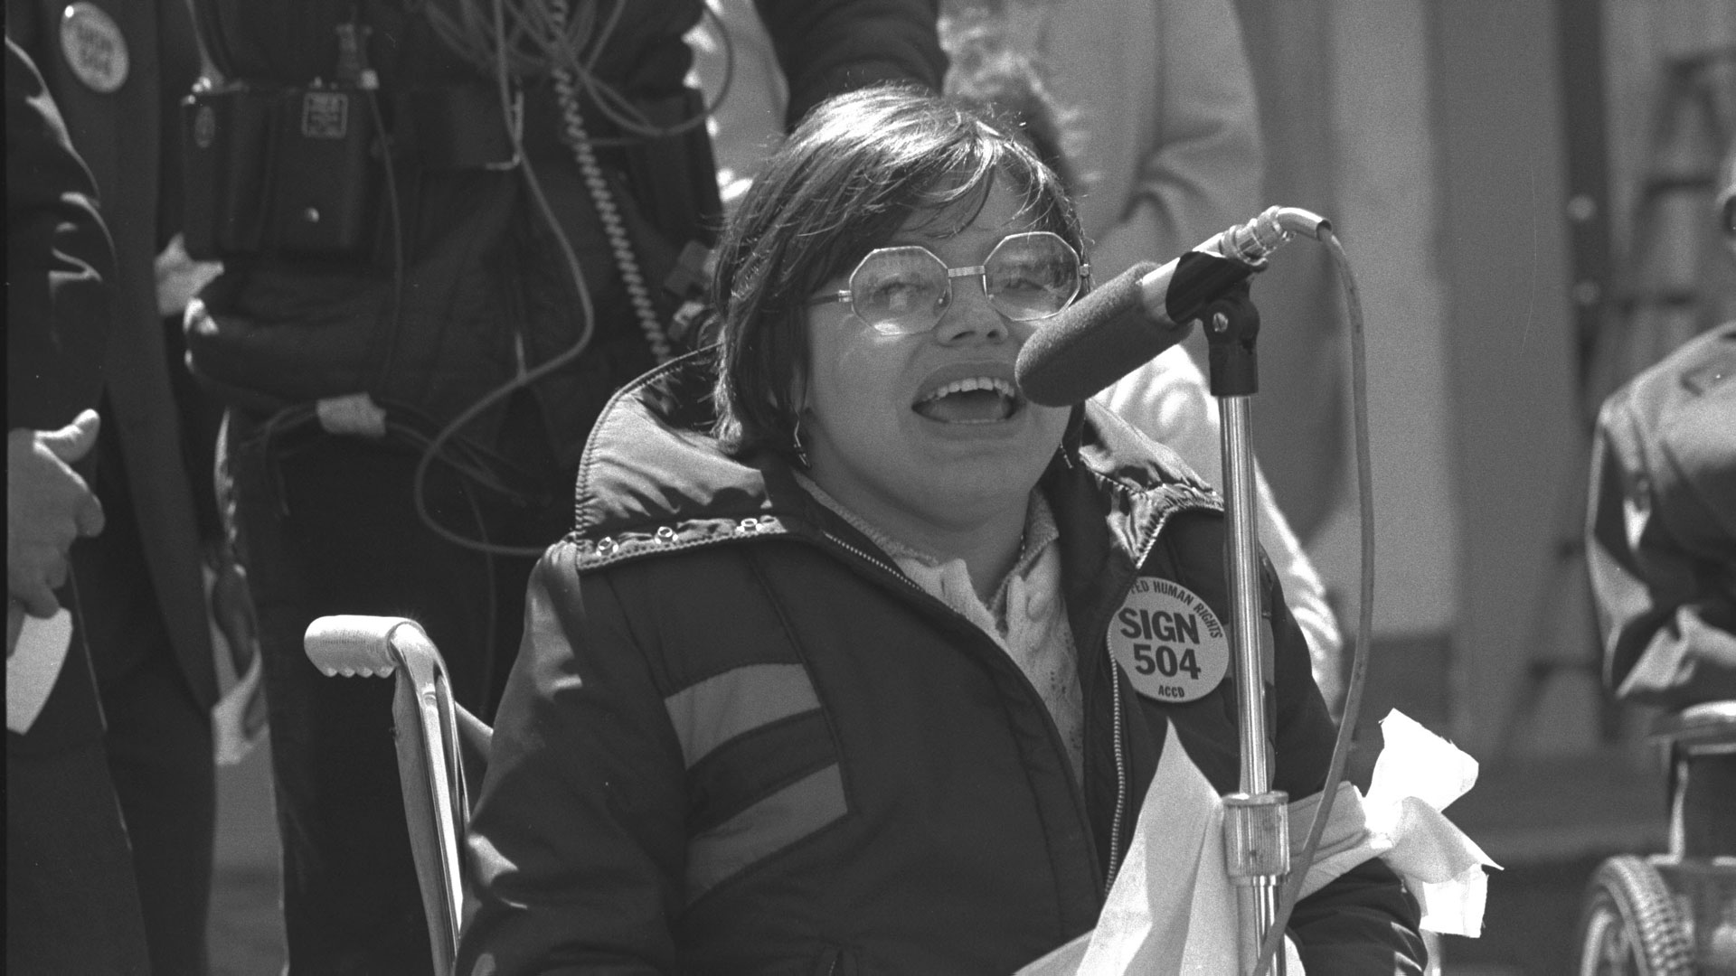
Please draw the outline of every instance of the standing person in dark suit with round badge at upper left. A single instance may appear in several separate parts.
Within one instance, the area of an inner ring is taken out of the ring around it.
[[[174,106],[200,73],[193,17],[182,0],[9,0],[7,36],[42,68],[115,240],[92,479],[108,528],[73,549],[73,570],[151,967],[198,974],[217,823],[214,655],[250,641],[234,630],[240,610],[208,603],[220,564],[215,431],[177,399],[186,365],[165,335],[200,274],[177,243]],[[233,644],[214,641],[219,618]]]

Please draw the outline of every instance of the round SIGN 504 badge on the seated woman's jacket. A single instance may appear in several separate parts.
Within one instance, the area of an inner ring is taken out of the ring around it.
[[[1184,585],[1139,577],[1109,622],[1109,651],[1134,691],[1158,702],[1196,702],[1229,672],[1229,632]]]

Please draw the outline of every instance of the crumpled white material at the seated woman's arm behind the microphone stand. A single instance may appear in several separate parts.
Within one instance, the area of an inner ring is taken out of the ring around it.
[[[1424,907],[1424,927],[1476,936],[1496,867],[1441,808],[1477,778],[1477,762],[1401,712],[1382,722],[1385,745],[1368,799],[1342,783],[1304,894],[1373,856],[1404,877]],[[1290,804],[1293,854],[1307,842],[1319,797]],[[1234,969],[1236,891],[1224,858],[1224,804],[1174,726],[1141,804],[1127,861],[1097,927],[1019,969],[1016,976],[1205,976]],[[1285,940],[1288,973],[1302,973]]]

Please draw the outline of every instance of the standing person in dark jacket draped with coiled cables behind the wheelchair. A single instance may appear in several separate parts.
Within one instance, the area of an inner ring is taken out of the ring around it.
[[[944,71],[934,0],[760,10],[790,120],[835,92],[937,87]],[[571,526],[585,432],[621,384],[691,340],[682,281],[703,281],[719,212],[703,106],[684,85],[682,36],[703,3],[198,12],[224,83],[194,101],[189,174],[205,172],[200,151],[227,153],[203,205],[259,205],[205,236],[189,226],[191,250],[215,248],[224,273],[189,311],[187,349],[229,405],[226,491],[266,656],[290,971],[420,974],[391,689],[321,676],[302,634],[328,613],[415,617],[458,702],[491,717],[524,582]],[[247,142],[253,123],[276,135]],[[222,196],[247,179],[255,196]],[[231,233],[241,224],[257,234]]]

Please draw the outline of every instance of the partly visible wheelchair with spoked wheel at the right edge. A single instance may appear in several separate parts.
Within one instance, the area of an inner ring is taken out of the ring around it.
[[[1651,731],[1672,757],[1736,752],[1736,702],[1667,716]],[[1674,788],[1672,811],[1680,802]],[[1616,854],[1597,867],[1580,908],[1580,976],[1736,976],[1736,856],[1686,849],[1672,825],[1665,854]]]

